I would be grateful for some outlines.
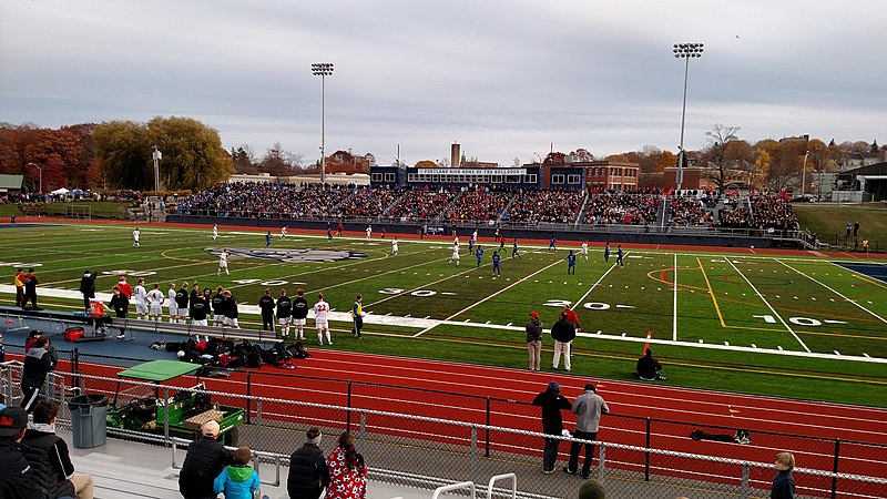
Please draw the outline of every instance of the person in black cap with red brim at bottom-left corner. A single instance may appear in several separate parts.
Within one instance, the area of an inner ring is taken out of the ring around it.
[[[28,413],[21,407],[0,410],[0,497],[3,499],[51,499],[34,480],[34,471],[24,458],[21,439],[28,427]]]

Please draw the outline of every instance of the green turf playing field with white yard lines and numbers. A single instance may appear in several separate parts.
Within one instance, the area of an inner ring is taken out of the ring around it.
[[[274,232],[266,252],[264,233],[246,230],[223,227],[213,243],[210,228],[142,227],[141,248],[131,233],[123,224],[7,226],[0,261],[10,282],[12,267],[39,265],[41,303],[53,308],[79,307],[77,294],[49,295],[77,291],[84,269],[100,273],[100,291],[122,273],[133,285],[144,276],[164,291],[171,281],[222,285],[245,305],[242,313],[266,287],[273,296],[300,287],[309,303],[323,292],[338,312],[363,293],[371,312],[366,339],[348,335],[347,322],[334,323],[336,348],[516,368],[527,365],[528,314],[539,312],[550,327],[568,304],[582,324],[573,375],[633,379],[650,335],[670,385],[887,407],[887,283],[869,276],[883,278],[883,261],[860,273],[808,254],[626,247],[619,267],[614,255],[604,263],[592,247],[568,275],[565,247],[523,246],[522,258],[511,259],[507,245],[502,275],[493,276],[492,243],[483,244],[477,268],[465,237],[457,267],[447,265],[449,240],[401,241],[390,256],[390,238],[327,242],[290,232],[279,241]],[[216,275],[222,247],[232,249],[230,276]],[[11,304],[11,286],[1,289]],[[242,325],[257,327],[257,317]],[[550,338],[542,364],[552,371]]]

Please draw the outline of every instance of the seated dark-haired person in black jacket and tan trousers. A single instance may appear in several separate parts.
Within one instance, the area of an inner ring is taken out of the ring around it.
[[[58,414],[59,405],[52,400],[40,400],[37,404],[33,424],[21,440],[26,446],[24,457],[31,464],[37,483],[52,497],[92,499],[92,477],[74,472],[68,444],[55,435]]]

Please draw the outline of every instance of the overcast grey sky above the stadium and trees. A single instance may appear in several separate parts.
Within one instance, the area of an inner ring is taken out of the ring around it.
[[[0,122],[188,116],[313,163],[323,101],[327,154],[378,164],[676,152],[680,42],[689,150],[715,124],[887,143],[883,0],[2,0]]]

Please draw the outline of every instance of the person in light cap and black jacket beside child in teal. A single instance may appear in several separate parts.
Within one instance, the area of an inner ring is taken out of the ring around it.
[[[203,438],[187,446],[179,473],[179,491],[185,499],[215,498],[213,480],[234,462],[234,452],[216,441],[218,431],[218,422],[207,421],[202,428]]]

